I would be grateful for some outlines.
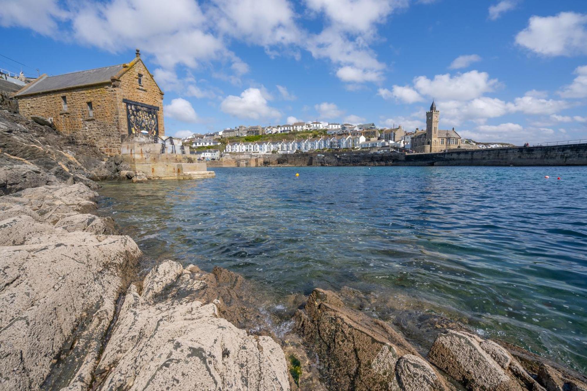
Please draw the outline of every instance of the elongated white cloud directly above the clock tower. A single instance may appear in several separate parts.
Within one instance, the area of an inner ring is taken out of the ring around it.
[[[436,75],[433,80],[426,76],[414,78],[414,87],[421,95],[439,100],[470,100],[491,92],[498,85],[497,79],[490,79],[487,72],[471,70],[455,76]]]

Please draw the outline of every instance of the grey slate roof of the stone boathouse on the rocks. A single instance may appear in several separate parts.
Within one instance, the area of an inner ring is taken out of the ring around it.
[[[110,78],[114,77],[123,70],[123,64],[104,66],[80,72],[66,73],[58,76],[45,76],[38,82],[33,82],[30,87],[16,94],[16,96],[31,95],[39,92],[49,92],[56,90],[69,89],[77,86],[95,85],[100,83],[109,83]]]

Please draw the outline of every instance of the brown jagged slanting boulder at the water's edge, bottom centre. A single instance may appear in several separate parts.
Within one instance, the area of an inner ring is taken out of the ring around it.
[[[346,308],[333,292],[314,289],[305,312],[298,311],[295,319],[296,330],[318,355],[322,376],[332,389],[448,389],[399,333]]]

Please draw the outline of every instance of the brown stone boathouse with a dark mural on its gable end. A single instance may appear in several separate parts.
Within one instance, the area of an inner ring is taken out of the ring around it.
[[[163,137],[163,91],[140,58],[65,75],[41,75],[19,90],[23,116],[53,120],[59,132],[77,144],[120,153],[127,134]]]

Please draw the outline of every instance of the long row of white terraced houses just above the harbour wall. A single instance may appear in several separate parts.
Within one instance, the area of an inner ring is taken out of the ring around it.
[[[305,140],[256,141],[228,143],[225,153],[294,153],[320,149],[355,149],[387,146],[384,140],[367,140],[359,136],[327,136],[313,137]]]

